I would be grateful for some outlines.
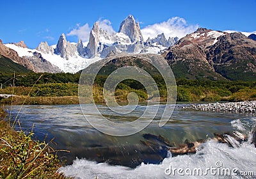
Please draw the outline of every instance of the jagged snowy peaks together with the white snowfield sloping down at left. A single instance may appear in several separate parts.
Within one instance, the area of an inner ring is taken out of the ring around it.
[[[28,49],[24,43],[5,45],[17,51],[20,57],[26,56],[31,63],[34,58],[39,61],[42,59],[42,61],[49,61],[53,66],[58,66],[59,70],[56,72],[61,70],[75,73],[99,59],[116,54],[160,54],[177,40],[177,37],[169,37],[166,40],[161,34],[144,42],[138,22],[135,22],[134,17],[129,15],[120,24],[118,33],[109,33],[101,29],[98,22],[95,22],[87,43],[82,40],[77,43],[68,42],[66,36],[61,34],[56,45],[49,46],[47,42],[41,42],[36,49]],[[55,68],[51,69],[52,72]]]

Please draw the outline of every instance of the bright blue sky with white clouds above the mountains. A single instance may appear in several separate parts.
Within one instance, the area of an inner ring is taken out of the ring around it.
[[[166,35],[177,33],[182,36],[197,27],[220,31],[256,31],[256,0],[19,0],[1,1],[0,7],[0,39],[4,43],[24,40],[29,48],[35,48],[45,40],[49,45],[56,44],[61,33],[65,33],[71,42],[77,42],[79,38],[86,41],[88,29],[97,20],[102,22],[102,27],[118,31],[122,20],[130,14],[140,22],[143,35],[149,35],[150,30],[157,33],[163,30]]]

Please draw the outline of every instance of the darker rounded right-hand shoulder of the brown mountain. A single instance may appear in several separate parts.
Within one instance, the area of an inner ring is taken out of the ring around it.
[[[207,60],[219,74],[231,80],[255,80],[256,42],[241,33],[221,36],[205,51]]]

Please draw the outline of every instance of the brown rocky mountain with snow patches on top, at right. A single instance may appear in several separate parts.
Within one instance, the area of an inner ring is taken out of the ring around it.
[[[256,43],[241,33],[200,28],[180,39],[163,56],[175,77],[253,80]]]

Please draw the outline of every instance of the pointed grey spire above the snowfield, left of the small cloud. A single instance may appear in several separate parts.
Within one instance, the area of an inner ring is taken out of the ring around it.
[[[76,56],[77,46],[67,42],[66,36],[62,34],[58,40],[54,54],[60,55],[62,58],[68,59],[69,56]]]

